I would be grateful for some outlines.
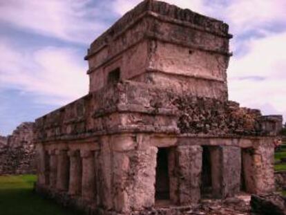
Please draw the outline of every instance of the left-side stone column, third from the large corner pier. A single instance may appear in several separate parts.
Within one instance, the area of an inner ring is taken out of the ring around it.
[[[68,191],[70,160],[68,151],[59,150],[57,154],[57,189],[59,191]]]

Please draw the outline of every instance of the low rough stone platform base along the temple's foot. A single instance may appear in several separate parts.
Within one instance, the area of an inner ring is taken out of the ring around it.
[[[35,191],[44,198],[55,200],[56,203],[64,207],[83,211],[87,215],[127,215],[95,207],[95,205],[88,203],[88,201],[82,198],[75,198],[75,196],[64,194],[64,192],[55,193],[37,185],[35,186]],[[225,200],[203,199],[197,205],[184,207],[152,207],[140,212],[131,212],[128,215],[248,215],[250,214],[249,201],[250,195],[240,194]]]

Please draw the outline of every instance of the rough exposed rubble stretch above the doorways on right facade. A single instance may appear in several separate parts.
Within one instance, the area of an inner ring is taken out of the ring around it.
[[[181,133],[210,135],[260,135],[260,111],[240,108],[231,101],[207,97],[178,97],[174,100],[180,111],[178,127]]]

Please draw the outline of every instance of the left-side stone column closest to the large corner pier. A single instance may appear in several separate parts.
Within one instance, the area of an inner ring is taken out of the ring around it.
[[[94,151],[81,151],[82,156],[82,198],[94,200],[95,191],[95,159]]]

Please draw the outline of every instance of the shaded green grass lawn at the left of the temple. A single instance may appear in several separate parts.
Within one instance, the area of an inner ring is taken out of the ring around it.
[[[0,176],[0,214],[79,215],[32,192],[34,175]]]

